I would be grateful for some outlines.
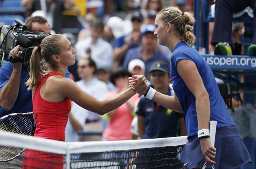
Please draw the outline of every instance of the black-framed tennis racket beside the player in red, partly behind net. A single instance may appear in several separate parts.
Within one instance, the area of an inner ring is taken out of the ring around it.
[[[0,131],[33,136],[35,125],[28,118],[28,113],[12,113],[0,118]],[[20,156],[25,148],[0,145],[0,162],[7,162]]]

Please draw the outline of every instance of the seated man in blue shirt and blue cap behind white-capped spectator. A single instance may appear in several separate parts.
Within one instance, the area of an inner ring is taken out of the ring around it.
[[[141,33],[141,47],[132,48],[127,51],[123,66],[128,67],[131,60],[140,59],[145,63],[145,76],[152,63],[155,61],[164,61],[170,63],[170,60],[157,49],[157,38],[154,36],[155,26],[147,25],[145,30]]]

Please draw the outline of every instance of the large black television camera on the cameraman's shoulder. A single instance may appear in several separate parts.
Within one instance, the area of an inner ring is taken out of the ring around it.
[[[4,60],[10,62],[29,63],[30,56],[35,46],[38,46],[43,38],[49,34],[43,31],[36,31],[35,34],[27,30],[27,25],[15,19],[15,25],[0,27],[0,66]],[[20,45],[20,58],[9,55],[10,51]]]

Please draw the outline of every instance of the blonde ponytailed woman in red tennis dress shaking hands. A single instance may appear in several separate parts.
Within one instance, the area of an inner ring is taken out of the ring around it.
[[[75,63],[76,50],[62,35],[49,35],[35,47],[30,58],[31,76],[27,81],[28,90],[32,89],[35,137],[65,141],[65,127],[71,101],[79,106],[103,115],[108,113],[136,94],[136,90],[146,89],[146,79],[139,76],[140,83],[128,88],[112,98],[98,101],[81,90],[73,80],[65,78],[68,66]],[[20,56],[16,48],[14,55]],[[43,63],[43,64],[42,64]],[[138,91],[138,92],[140,92]],[[63,156],[33,150],[26,150],[23,169],[63,168]]]

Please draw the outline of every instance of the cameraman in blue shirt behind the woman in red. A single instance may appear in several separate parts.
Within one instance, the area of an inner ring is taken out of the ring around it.
[[[33,33],[40,30],[50,34],[50,25],[44,17],[29,17],[25,24],[27,25],[27,30]],[[18,45],[10,52],[20,57],[19,48],[20,46]],[[30,77],[30,70],[26,65],[20,62],[11,63],[7,61],[0,68],[0,117],[10,113],[33,111],[32,90],[27,91],[27,86],[25,85],[25,82]],[[69,76],[67,71],[65,77],[69,78]]]

